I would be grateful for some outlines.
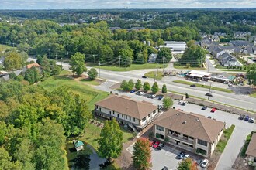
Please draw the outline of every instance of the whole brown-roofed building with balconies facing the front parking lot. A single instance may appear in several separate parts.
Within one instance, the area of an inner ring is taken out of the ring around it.
[[[170,109],[154,121],[154,137],[171,145],[211,157],[225,124],[199,114]]]

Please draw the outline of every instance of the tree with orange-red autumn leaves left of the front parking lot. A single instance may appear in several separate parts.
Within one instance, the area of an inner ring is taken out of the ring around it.
[[[133,165],[138,170],[147,170],[152,166],[150,141],[147,138],[138,138],[134,144]]]

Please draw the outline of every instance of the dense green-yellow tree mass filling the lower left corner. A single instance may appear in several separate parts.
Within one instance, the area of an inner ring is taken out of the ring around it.
[[[0,83],[0,169],[68,169],[67,137],[92,117],[67,87],[48,93],[25,82]]]

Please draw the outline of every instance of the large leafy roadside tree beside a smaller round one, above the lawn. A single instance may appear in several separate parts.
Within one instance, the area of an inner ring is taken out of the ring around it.
[[[76,73],[78,76],[81,76],[82,73],[87,71],[85,67],[85,55],[81,53],[75,53],[71,56],[71,70],[72,73]]]

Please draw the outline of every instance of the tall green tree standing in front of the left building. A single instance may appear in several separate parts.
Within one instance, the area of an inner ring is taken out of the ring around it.
[[[123,148],[122,140],[123,131],[120,130],[116,119],[105,121],[98,141],[99,156],[101,158],[107,158],[109,161],[112,158],[118,158]]]

